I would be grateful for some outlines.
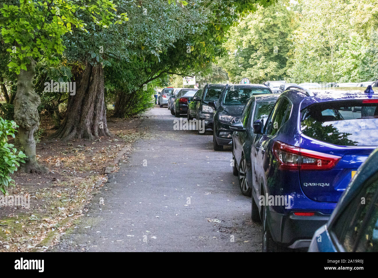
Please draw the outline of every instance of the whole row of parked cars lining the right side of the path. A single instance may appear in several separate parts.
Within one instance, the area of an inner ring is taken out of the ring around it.
[[[378,251],[378,95],[364,89],[208,84],[174,111],[232,146],[263,251]]]

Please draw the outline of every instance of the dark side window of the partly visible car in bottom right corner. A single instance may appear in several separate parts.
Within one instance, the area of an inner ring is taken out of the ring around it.
[[[330,231],[346,252],[378,251],[378,175],[363,188],[332,224]],[[351,217],[352,216],[352,217]]]

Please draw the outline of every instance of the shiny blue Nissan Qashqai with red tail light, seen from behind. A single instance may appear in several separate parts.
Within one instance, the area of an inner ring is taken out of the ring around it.
[[[359,166],[378,146],[378,95],[292,85],[253,123],[252,219],[263,251],[307,249]],[[352,112],[353,107],[368,111]]]

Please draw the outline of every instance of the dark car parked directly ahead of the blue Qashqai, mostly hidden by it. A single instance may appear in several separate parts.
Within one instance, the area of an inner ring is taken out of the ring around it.
[[[256,95],[249,98],[245,105],[240,121],[231,124],[232,134],[232,171],[239,177],[242,194],[251,196],[252,168],[254,157],[251,156],[251,146],[256,134],[253,123],[259,119],[266,120],[280,94]]]

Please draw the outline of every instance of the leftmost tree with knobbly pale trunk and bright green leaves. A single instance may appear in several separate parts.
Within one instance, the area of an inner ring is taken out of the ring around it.
[[[8,52],[9,70],[17,75],[14,99],[14,120],[19,125],[20,144],[27,156],[22,168],[28,172],[46,169],[36,161],[34,132],[39,126],[37,107],[40,97],[34,91],[36,59],[46,56],[51,64],[58,63],[64,51],[62,36],[73,28],[86,30],[87,24],[78,16],[88,14],[95,25],[106,28],[117,17],[110,0],[5,0],[0,6],[1,36],[11,45]],[[118,22],[125,20],[118,16]]]

